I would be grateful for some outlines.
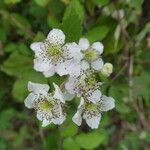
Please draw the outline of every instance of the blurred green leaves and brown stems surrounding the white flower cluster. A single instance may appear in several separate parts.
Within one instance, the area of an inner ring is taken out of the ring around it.
[[[149,0],[0,0],[0,150],[149,150],[150,149]],[[77,127],[71,118],[78,99],[68,102],[61,126],[41,128],[24,106],[27,82],[61,84],[33,70],[29,46],[61,28],[66,40],[102,41],[103,59],[114,65],[103,93],[116,108],[100,127]]]

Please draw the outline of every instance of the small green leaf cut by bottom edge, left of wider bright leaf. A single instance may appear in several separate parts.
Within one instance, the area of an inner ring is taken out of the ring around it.
[[[73,138],[66,138],[63,142],[63,148],[64,150],[80,150]]]

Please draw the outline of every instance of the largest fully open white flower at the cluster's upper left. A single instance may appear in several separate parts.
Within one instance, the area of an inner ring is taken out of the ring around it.
[[[45,77],[74,73],[75,68],[71,67],[71,72],[68,67],[83,58],[75,42],[65,44],[65,35],[60,29],[51,30],[44,42],[35,42],[30,47],[35,52],[34,69],[43,72]]]

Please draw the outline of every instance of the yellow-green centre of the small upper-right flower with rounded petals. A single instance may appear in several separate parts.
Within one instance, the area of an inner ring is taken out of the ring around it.
[[[87,61],[94,61],[98,58],[98,53],[94,51],[93,49],[89,49],[85,52],[85,59]]]

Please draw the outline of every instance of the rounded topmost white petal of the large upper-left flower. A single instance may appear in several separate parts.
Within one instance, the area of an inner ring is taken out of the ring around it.
[[[53,29],[47,36],[49,42],[54,45],[63,45],[65,42],[65,35],[60,29]]]

